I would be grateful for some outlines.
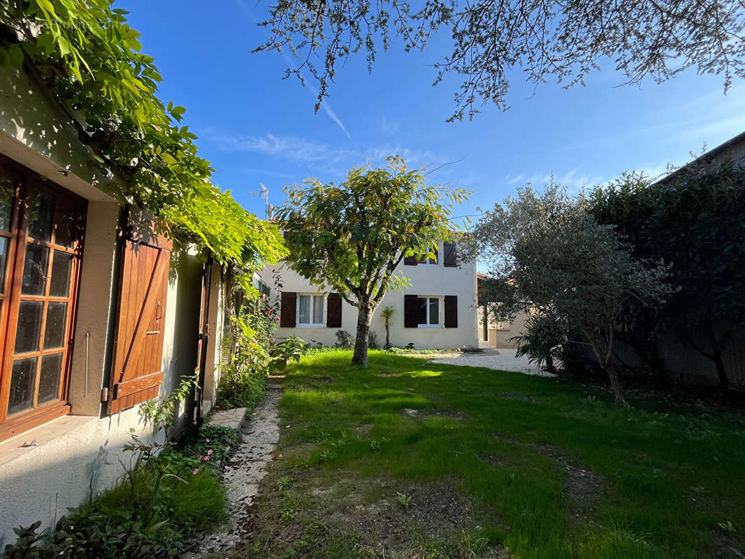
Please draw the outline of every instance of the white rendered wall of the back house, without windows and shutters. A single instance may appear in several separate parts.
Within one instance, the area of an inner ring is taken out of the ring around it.
[[[440,243],[440,262],[442,262],[443,245]],[[279,264],[267,266],[261,271],[261,279],[272,288],[271,297],[277,300],[279,293],[273,284],[272,273],[279,270],[282,275],[282,291],[295,291],[301,293],[323,293],[334,291],[331,288],[318,288],[311,286],[307,279],[300,277],[291,271],[287,265]],[[404,293],[391,291],[387,293],[382,303],[375,310],[373,316],[373,329],[382,344],[385,341],[384,321],[380,317],[381,310],[385,306],[396,309],[390,320],[390,344],[397,347],[405,347],[410,342],[419,349],[452,349],[461,346],[478,347],[476,332],[476,267],[475,264],[466,263],[462,268],[446,268],[439,266],[406,266],[399,265],[400,271],[410,280],[411,287],[406,289],[406,294],[416,295],[456,295],[458,309],[458,327],[444,328],[444,308],[440,303],[440,327],[439,328],[405,328],[404,327]],[[326,305],[324,305],[324,311]],[[296,335],[308,342],[320,342],[326,346],[336,343],[335,332],[339,328],[327,328],[324,325],[297,326],[295,328],[279,328],[275,334],[276,338],[286,338]],[[341,328],[352,336],[357,329],[357,309],[346,301],[342,302]]]

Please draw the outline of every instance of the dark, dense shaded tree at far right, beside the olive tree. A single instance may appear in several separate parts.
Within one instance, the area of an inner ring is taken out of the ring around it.
[[[726,392],[724,352],[745,326],[745,168],[694,164],[658,183],[627,174],[595,189],[590,203],[635,255],[671,264],[678,289],[635,338],[675,336],[711,359]]]

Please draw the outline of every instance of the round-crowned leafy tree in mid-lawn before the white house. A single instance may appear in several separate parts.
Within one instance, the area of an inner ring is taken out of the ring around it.
[[[469,195],[428,185],[400,157],[388,164],[353,168],[339,185],[309,179],[288,187],[276,211],[290,268],[357,307],[352,363],[364,366],[375,309],[388,291],[408,285],[396,268],[404,256],[434,258],[432,247],[454,239],[452,209]]]

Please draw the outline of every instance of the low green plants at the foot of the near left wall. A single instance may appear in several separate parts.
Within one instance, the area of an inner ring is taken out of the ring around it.
[[[219,443],[232,440],[219,429],[209,434]],[[133,461],[120,483],[91,503],[69,509],[51,531],[38,534],[40,522],[16,528],[18,539],[0,557],[177,558],[188,537],[226,517],[225,491],[216,475],[224,445],[206,451],[209,460],[185,453],[194,447],[179,452],[173,444],[146,444],[135,435],[124,448],[133,453]]]

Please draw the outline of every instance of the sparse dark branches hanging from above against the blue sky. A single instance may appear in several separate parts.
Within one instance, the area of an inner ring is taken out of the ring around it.
[[[434,83],[451,73],[463,80],[449,120],[473,118],[481,104],[506,110],[510,75],[536,88],[548,80],[568,88],[603,64],[626,83],[659,83],[695,68],[723,75],[725,92],[745,77],[742,0],[282,0],[261,25],[269,39],[255,51],[296,54],[285,77],[302,82],[307,71],[317,80],[316,110],[352,54],[363,51],[372,72],[379,49],[423,50],[437,35],[451,45],[434,65]]]

